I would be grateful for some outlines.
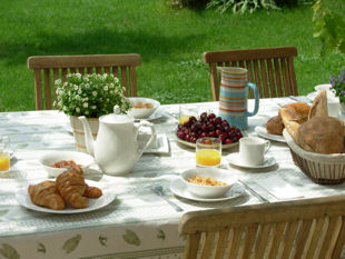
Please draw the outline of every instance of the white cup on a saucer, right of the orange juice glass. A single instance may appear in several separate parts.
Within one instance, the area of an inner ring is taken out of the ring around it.
[[[262,166],[265,153],[270,148],[269,140],[257,137],[239,139],[239,160],[246,166]]]

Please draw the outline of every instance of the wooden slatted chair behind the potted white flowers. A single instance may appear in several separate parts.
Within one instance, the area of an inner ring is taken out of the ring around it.
[[[69,72],[112,73],[125,87],[125,94],[136,97],[136,67],[140,64],[141,57],[136,53],[29,57],[28,69],[34,71],[36,109],[52,109],[52,98],[56,100],[53,81],[66,80]]]

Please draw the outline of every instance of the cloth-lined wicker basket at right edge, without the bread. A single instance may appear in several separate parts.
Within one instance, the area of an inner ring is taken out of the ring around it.
[[[285,129],[283,131],[295,165],[314,182],[337,185],[345,181],[345,153],[315,153],[302,149]]]

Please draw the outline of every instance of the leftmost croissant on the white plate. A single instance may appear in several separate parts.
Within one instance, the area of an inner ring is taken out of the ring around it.
[[[28,188],[30,199],[34,205],[53,210],[62,210],[65,200],[57,190],[55,181],[42,181]]]

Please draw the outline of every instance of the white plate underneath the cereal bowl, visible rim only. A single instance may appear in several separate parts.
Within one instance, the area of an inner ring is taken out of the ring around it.
[[[239,196],[241,196],[243,193],[245,193],[245,188],[236,182],[234,183],[234,186],[223,196],[219,198],[201,198],[198,196],[195,196],[193,193],[190,193],[187,190],[187,186],[183,182],[181,179],[177,179],[175,181],[170,182],[170,190],[174,195],[188,199],[188,200],[195,200],[195,201],[206,201],[206,202],[215,202],[215,201],[225,201],[225,200],[230,200],[230,199],[235,199]]]

